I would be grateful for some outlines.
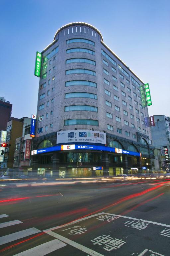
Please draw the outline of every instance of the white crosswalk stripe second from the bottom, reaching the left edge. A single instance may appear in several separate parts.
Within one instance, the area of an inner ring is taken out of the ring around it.
[[[26,237],[26,236],[30,236],[36,233],[41,232],[41,230],[37,229],[37,228],[29,228],[29,229],[25,229],[19,232],[15,232],[6,236],[2,236],[0,237],[0,245],[2,244],[6,244],[12,241],[15,241],[17,239]]]

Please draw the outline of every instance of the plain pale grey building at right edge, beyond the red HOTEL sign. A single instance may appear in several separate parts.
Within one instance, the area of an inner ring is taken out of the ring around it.
[[[169,117],[164,115],[154,115],[155,126],[151,127],[152,143],[155,148],[160,149],[161,167],[163,170],[169,170],[169,161],[166,161],[164,147],[168,149],[170,157],[170,125]]]

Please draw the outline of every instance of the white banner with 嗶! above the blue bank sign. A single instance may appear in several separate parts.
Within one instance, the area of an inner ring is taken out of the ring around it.
[[[92,130],[68,130],[57,132],[57,144],[70,142],[106,144],[106,133]]]

